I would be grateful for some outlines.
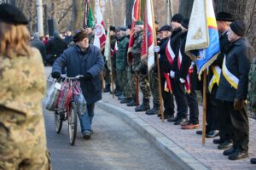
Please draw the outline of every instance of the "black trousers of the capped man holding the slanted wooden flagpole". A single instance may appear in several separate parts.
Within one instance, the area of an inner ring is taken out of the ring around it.
[[[174,100],[173,95],[171,92],[165,91],[165,81],[166,79],[164,77],[160,77],[161,79],[161,91],[162,91],[162,97],[164,100],[164,107],[165,107],[165,115],[173,116],[174,115]]]

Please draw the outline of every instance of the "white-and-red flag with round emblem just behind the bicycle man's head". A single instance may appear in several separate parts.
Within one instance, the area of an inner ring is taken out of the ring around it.
[[[103,49],[106,42],[106,34],[104,29],[105,23],[102,17],[101,8],[96,8],[96,25],[95,25],[95,39],[93,45]]]

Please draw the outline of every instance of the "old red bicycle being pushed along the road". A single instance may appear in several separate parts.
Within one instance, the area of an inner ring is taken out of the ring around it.
[[[71,145],[75,143],[75,139],[77,135],[77,124],[78,124],[77,114],[79,114],[78,103],[74,99],[76,89],[73,82],[77,82],[79,77],[83,77],[83,76],[66,77],[65,75],[61,75],[61,78],[59,80],[62,80],[63,83],[67,82],[68,88],[72,88],[72,94],[71,94],[72,96],[69,96],[69,98],[68,96],[64,96],[65,97],[64,110],[61,111],[60,108],[57,108],[55,110],[55,132],[61,133],[62,122],[67,121],[69,144]]]

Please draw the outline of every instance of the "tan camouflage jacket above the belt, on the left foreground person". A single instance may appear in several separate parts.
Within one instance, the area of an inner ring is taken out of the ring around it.
[[[38,49],[32,48],[30,57],[9,59],[0,55],[0,63],[0,105],[26,116],[42,114],[46,81]]]

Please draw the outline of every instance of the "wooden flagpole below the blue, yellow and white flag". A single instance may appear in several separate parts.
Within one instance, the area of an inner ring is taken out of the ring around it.
[[[206,143],[206,118],[207,118],[207,71],[203,71],[203,118],[202,118],[202,144]]]

